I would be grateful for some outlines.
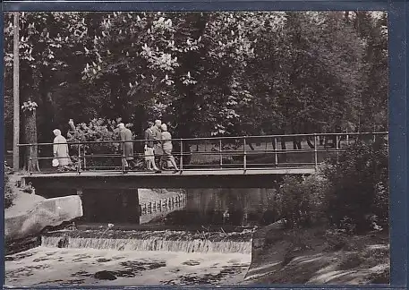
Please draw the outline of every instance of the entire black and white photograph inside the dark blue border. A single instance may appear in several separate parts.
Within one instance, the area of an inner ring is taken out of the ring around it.
[[[5,286],[388,285],[388,13],[4,13],[4,160]]]

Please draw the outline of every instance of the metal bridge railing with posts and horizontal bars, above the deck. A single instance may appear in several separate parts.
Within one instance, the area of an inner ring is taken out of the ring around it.
[[[324,159],[337,157],[356,141],[376,141],[388,138],[388,132],[310,133],[292,135],[263,135],[239,137],[209,137],[172,139],[176,164],[183,171],[195,170],[247,170],[273,168],[317,168]],[[67,142],[71,165],[67,171],[81,174],[84,171],[119,171],[127,169],[122,162],[125,143],[132,143],[136,169],[145,167],[144,144],[146,140],[132,141],[76,141]],[[63,143],[59,143],[62,145]],[[40,172],[49,170],[54,143],[19,144],[28,150],[28,170],[40,167]],[[50,153],[47,153],[48,152]],[[46,153],[45,153],[46,152]],[[57,158],[57,159],[62,159]],[[160,163],[160,164],[158,164]],[[34,166],[34,165],[39,166]],[[168,166],[165,160],[157,159],[158,166]],[[170,168],[169,168],[170,169]],[[171,170],[171,169],[170,169]]]

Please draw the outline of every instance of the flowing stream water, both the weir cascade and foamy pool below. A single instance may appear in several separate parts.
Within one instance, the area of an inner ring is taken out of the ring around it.
[[[250,267],[251,234],[111,229],[47,233],[41,246],[5,257],[5,285],[237,285]],[[101,271],[106,272],[96,275]]]

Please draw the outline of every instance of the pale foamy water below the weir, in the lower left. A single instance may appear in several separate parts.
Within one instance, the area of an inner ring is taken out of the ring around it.
[[[242,252],[132,251],[131,245],[127,247],[118,251],[41,246],[7,256],[5,285],[237,285],[251,263],[251,254]],[[94,274],[101,270],[113,272],[117,279],[98,280]]]

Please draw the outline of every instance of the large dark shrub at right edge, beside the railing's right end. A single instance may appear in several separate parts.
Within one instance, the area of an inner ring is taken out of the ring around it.
[[[368,228],[365,215],[388,220],[388,145],[386,141],[356,142],[336,159],[323,175],[332,184],[325,197],[327,216],[340,228]]]

